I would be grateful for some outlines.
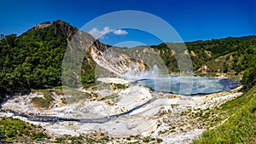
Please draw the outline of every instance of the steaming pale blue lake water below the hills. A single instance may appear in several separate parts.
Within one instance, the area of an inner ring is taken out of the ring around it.
[[[240,79],[164,76],[138,81],[155,91],[179,95],[207,95],[240,86]]]

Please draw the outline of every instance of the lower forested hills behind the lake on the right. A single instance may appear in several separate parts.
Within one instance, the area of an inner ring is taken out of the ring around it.
[[[238,74],[247,69],[255,49],[256,37],[226,37],[207,41],[185,43],[188,54],[193,63],[194,71],[200,70],[201,66],[208,67],[207,72],[233,72]],[[161,43],[154,45],[170,72],[178,72],[177,61],[174,51],[169,47],[179,47],[179,43]]]

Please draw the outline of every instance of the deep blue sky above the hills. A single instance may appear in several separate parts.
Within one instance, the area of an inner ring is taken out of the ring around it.
[[[102,14],[119,10],[154,14],[166,20],[185,42],[256,34],[256,0],[1,0],[0,8],[0,33],[5,35],[20,35],[48,20],[64,20],[81,28]],[[126,33],[114,34],[118,29],[106,27],[111,32],[100,38],[103,43],[161,42],[147,32],[122,29]],[[103,27],[96,28],[103,31]]]

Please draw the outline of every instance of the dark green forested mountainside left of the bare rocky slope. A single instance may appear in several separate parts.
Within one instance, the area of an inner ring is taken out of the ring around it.
[[[14,94],[61,85],[61,61],[77,28],[56,20],[34,26],[0,43],[0,89]]]

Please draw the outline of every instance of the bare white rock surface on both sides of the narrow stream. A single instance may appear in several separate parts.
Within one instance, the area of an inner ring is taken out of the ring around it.
[[[104,95],[104,89],[102,90]],[[111,93],[111,92],[107,92]],[[113,93],[113,91],[112,91]],[[115,91],[116,93],[116,91]],[[101,94],[101,92],[99,92]],[[129,135],[143,135],[160,137],[163,143],[189,143],[204,131],[204,129],[191,129],[189,131],[177,132],[170,135],[159,135],[160,131],[168,130],[169,126],[166,124],[159,124],[161,118],[165,115],[160,115],[160,112],[181,113],[191,108],[207,109],[221,105],[225,101],[229,101],[242,93],[218,93],[204,96],[183,96],[168,94],[166,98],[163,94],[155,94],[159,98],[152,101],[143,107],[129,113],[128,115],[113,118],[110,121],[102,124],[97,123],[79,123],[72,121],[44,123],[33,122],[14,116],[10,112],[0,112],[0,117],[14,117],[20,118],[32,124],[39,124],[48,131],[51,135],[80,135],[95,133],[102,131],[112,136],[129,136]],[[127,89],[117,91],[119,101],[111,106],[104,101],[79,101],[79,103],[61,105],[61,98],[68,95],[55,95],[55,102],[53,107],[49,109],[38,109],[32,105],[32,97],[42,97],[40,94],[17,95],[12,99],[5,101],[2,109],[10,109],[15,112],[24,112],[34,115],[55,116],[61,118],[104,118],[106,116],[126,112],[134,107],[142,105],[143,103],[154,98],[149,89],[142,86],[134,85]],[[169,98],[168,98],[169,97]],[[173,107],[175,106],[175,107]],[[178,116],[178,115],[177,115]],[[170,118],[171,121],[179,121],[179,117]],[[181,119],[182,120],[182,119]],[[184,123],[180,121],[180,123]]]

